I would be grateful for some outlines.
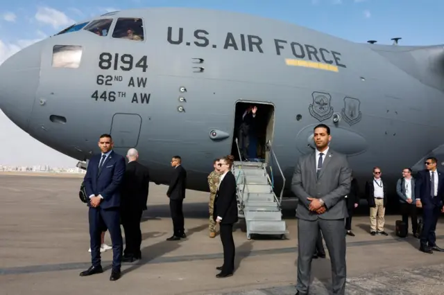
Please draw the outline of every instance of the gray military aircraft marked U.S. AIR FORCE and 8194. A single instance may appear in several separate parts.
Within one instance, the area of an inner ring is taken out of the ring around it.
[[[187,187],[208,190],[212,159],[239,156],[235,115],[256,105],[258,157],[271,163],[278,190],[280,163],[284,196],[318,123],[331,127],[332,148],[348,155],[361,184],[379,166],[394,189],[404,166],[444,159],[443,45],[395,41],[359,44],[225,11],[110,12],[6,60],[0,107],[79,161],[110,132],[117,152],[137,147],[157,184],[169,182],[169,162],[179,154]]]

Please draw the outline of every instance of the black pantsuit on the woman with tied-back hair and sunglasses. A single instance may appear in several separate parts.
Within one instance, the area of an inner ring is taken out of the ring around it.
[[[221,176],[222,177],[222,176]],[[228,171],[221,181],[214,198],[213,219],[221,217],[221,242],[223,246],[223,266],[221,274],[232,274],[234,271],[233,225],[237,222],[236,179]]]

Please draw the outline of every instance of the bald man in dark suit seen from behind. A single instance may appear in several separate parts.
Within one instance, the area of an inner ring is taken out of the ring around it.
[[[146,210],[148,199],[149,174],[148,168],[137,162],[139,153],[135,148],[128,150],[126,157],[128,165],[123,176],[121,221],[125,231],[124,262],[133,262],[142,258],[140,245],[142,244],[142,231],[140,220],[142,211]]]

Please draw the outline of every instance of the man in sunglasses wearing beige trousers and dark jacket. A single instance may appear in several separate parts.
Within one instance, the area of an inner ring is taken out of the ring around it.
[[[373,179],[366,182],[366,198],[370,207],[370,235],[388,235],[384,231],[387,193],[381,174],[379,167],[373,168]]]

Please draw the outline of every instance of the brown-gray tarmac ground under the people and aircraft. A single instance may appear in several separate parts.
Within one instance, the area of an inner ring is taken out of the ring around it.
[[[83,175],[0,173],[0,294],[295,294],[297,220],[294,202],[284,204],[287,240],[247,240],[237,229],[236,271],[216,278],[223,253],[219,236],[208,236],[209,194],[187,191],[187,239],[171,236],[167,187],[150,184],[142,217],[142,260],[122,264],[110,282],[112,250],[102,253],[103,274],[80,277],[90,265],[87,206],[78,189]],[[367,211],[368,212],[368,211]],[[444,294],[444,253],[418,251],[419,241],[394,234],[386,216],[384,236],[368,233],[368,213],[353,217],[355,237],[347,237],[346,294]],[[444,247],[444,224],[436,230]],[[111,244],[110,236],[105,242]],[[330,258],[313,260],[309,294],[332,294]]]

